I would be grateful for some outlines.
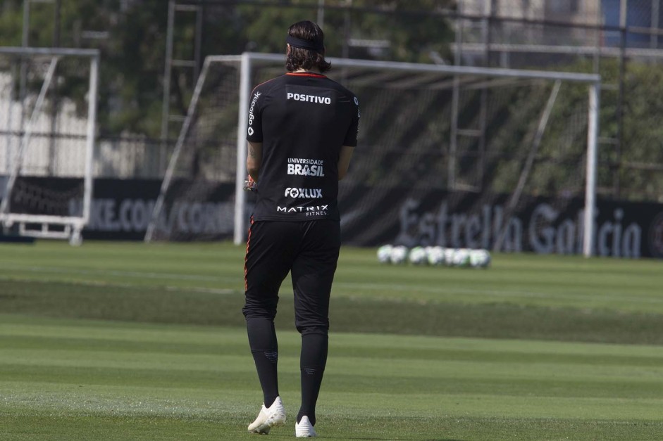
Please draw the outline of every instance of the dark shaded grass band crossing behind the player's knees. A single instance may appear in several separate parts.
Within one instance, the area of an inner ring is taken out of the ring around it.
[[[0,281],[0,311],[46,317],[245,327],[244,296],[157,287]],[[426,302],[333,294],[333,331],[663,345],[663,314],[508,302]],[[277,324],[293,328],[292,294]]]

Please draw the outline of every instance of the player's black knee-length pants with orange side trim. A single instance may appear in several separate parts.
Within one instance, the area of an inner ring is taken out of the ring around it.
[[[252,220],[244,262],[244,317],[273,320],[278,290],[290,271],[297,331],[326,334],[339,248],[337,221]]]

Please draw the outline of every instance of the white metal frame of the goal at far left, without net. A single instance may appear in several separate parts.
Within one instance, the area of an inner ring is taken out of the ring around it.
[[[5,228],[18,224],[18,234],[20,236],[32,236],[36,238],[59,238],[69,239],[73,245],[78,245],[82,241],[81,231],[89,222],[90,208],[92,205],[92,173],[94,161],[94,136],[97,121],[97,89],[99,84],[99,50],[97,49],[63,49],[63,48],[32,48],[32,47],[0,47],[0,54],[13,56],[47,56],[51,57],[49,71],[44,77],[41,91],[37,97],[35,108],[32,115],[29,115],[25,127],[23,127],[23,136],[20,139],[18,151],[11,162],[11,172],[6,181],[4,189],[4,198],[0,203],[0,223]],[[30,137],[34,129],[35,115],[39,113],[44,103],[44,97],[50,87],[54,70],[61,57],[80,57],[89,58],[89,88],[87,105],[87,127],[85,142],[85,165],[83,174],[83,200],[82,213],[80,216],[56,216],[56,215],[29,215],[21,213],[12,213],[11,191],[16,183],[23,165],[23,158],[27,146],[30,145]],[[39,225],[39,229],[31,226]],[[57,226],[56,229],[52,227]]]

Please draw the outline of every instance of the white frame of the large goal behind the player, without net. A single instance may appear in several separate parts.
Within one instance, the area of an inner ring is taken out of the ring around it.
[[[247,158],[247,106],[249,104],[249,96],[251,95],[252,87],[251,75],[252,65],[256,62],[273,62],[285,63],[285,56],[283,54],[272,53],[242,53],[241,56],[208,56],[205,58],[201,74],[198,77],[198,82],[192,96],[192,100],[182,125],[182,131],[178,137],[178,142],[175,144],[175,149],[171,160],[166,170],[166,176],[163,179],[161,192],[152,213],[151,222],[149,224],[145,241],[151,240],[152,233],[156,225],[156,219],[159,218],[161,207],[163,206],[163,198],[170,185],[170,181],[175,170],[175,163],[182,149],[182,144],[190,127],[192,117],[196,112],[196,106],[202,85],[204,84],[207,72],[211,63],[240,61],[240,103],[237,124],[237,174],[235,177],[235,225],[233,241],[236,245],[240,245],[244,241],[244,233],[246,231],[247,219],[244,219],[244,209],[246,205],[246,194],[243,190],[244,179],[247,176],[246,172],[246,158]],[[399,63],[390,61],[376,61],[376,60],[354,60],[349,58],[328,58],[328,60],[337,68],[354,67],[354,68],[372,68],[377,70],[391,70],[402,72],[438,72],[449,75],[485,75],[491,77],[504,77],[504,78],[521,78],[521,79],[547,79],[547,80],[561,80],[565,82],[578,82],[587,84],[588,87],[588,134],[587,134],[587,168],[585,176],[585,210],[583,218],[583,255],[589,257],[593,253],[593,240],[594,240],[594,216],[596,205],[596,174],[597,174],[597,139],[599,134],[599,108],[600,108],[600,85],[601,77],[595,74],[585,74],[576,72],[555,72],[543,70],[518,70],[518,69],[502,69],[502,68],[475,68],[469,66],[452,66],[452,65],[428,65],[417,63]],[[452,140],[451,145],[454,145]],[[450,173],[454,170],[450,165]],[[451,178],[450,178],[451,179]]]

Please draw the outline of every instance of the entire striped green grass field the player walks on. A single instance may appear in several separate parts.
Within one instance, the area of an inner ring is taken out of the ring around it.
[[[0,245],[0,440],[243,440],[261,392],[229,244]],[[660,440],[663,262],[343,248],[316,429],[334,440]],[[294,437],[299,335],[277,328]]]

